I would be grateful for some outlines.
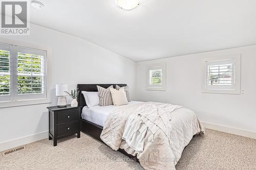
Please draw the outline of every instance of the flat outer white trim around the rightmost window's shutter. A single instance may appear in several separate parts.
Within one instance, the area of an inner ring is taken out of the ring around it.
[[[233,88],[225,88],[224,86],[216,86],[216,88],[207,88],[208,87],[208,78],[207,78],[207,64],[206,62],[211,61],[225,61],[225,60],[234,60],[233,66]],[[202,59],[202,80],[201,80],[201,92],[202,93],[222,93],[222,94],[241,94],[241,54],[225,55],[225,56],[216,56],[211,58]]]

